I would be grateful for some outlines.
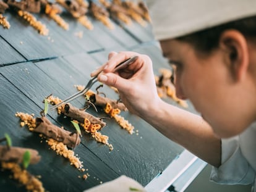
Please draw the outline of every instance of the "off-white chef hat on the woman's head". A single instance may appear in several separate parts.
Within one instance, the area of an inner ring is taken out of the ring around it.
[[[256,0],[146,0],[156,40],[256,15]]]

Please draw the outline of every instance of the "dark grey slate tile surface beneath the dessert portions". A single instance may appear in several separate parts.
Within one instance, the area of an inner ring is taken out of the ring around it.
[[[109,30],[101,22],[89,17],[94,25],[90,31],[64,14],[62,18],[69,23],[70,28],[65,31],[45,15],[36,15],[49,28],[49,36],[41,36],[14,13],[6,12],[4,15],[8,17],[11,28],[0,29],[0,43],[7,56],[0,57],[0,107],[4,109],[0,112],[0,135],[9,133],[15,146],[31,147],[40,152],[42,160],[38,165],[31,165],[29,170],[42,176],[46,190],[82,191],[119,175],[127,175],[145,186],[183,151],[181,146],[165,138],[147,122],[129,112],[122,112],[121,115],[134,125],[135,133],[129,135],[113,119],[105,119],[107,125],[101,133],[109,136],[113,151],[83,133],[82,144],[75,149],[75,153],[83,160],[91,176],[86,181],[78,178],[82,173],[48,150],[46,143],[40,143],[38,135],[26,128],[19,128],[15,112],[39,115],[45,96],[52,93],[64,99],[75,93],[77,90],[74,85],[85,85],[90,72],[106,62],[109,51],[129,50],[148,54],[155,73],[161,67],[168,67],[168,64],[153,40],[150,25],[144,28],[135,22],[129,27],[114,23],[115,29]],[[79,31],[83,32],[81,39],[74,35]],[[97,85],[92,89],[95,90]],[[118,98],[108,86],[103,86],[100,91],[109,98]],[[170,99],[166,101],[172,102]],[[84,102],[81,96],[71,103],[83,107]],[[98,113],[94,109],[88,109],[87,112],[97,117],[107,117],[101,109],[98,109]],[[49,112],[48,117],[56,125],[74,130],[69,118],[55,111]],[[8,175],[9,172],[1,173],[0,188],[5,191],[23,191]]]

